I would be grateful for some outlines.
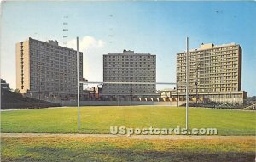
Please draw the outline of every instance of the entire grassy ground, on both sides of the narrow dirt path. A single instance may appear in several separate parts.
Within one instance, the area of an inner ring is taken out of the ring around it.
[[[186,138],[186,135],[108,137],[110,126],[184,127],[185,108],[81,107],[80,130],[77,115],[76,107],[2,111],[1,161],[190,162],[253,161],[255,158],[254,111],[189,108],[190,129],[218,129],[220,136],[202,138]]]

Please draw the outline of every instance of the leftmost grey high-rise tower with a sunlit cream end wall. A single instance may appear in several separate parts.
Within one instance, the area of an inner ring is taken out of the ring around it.
[[[82,78],[83,53],[79,52],[80,81]],[[21,93],[77,94],[77,52],[57,41],[29,38],[16,43],[16,87]]]

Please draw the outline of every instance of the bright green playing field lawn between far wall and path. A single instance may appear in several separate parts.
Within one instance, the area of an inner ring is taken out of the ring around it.
[[[109,133],[110,126],[175,128],[185,126],[185,109],[166,106],[26,109],[1,112],[2,132]],[[254,135],[253,111],[189,108],[189,128],[217,128],[222,135]]]

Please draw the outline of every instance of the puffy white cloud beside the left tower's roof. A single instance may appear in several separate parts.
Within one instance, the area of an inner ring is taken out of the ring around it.
[[[96,40],[92,36],[84,36],[83,38],[79,39],[79,51],[82,51],[82,52],[89,49],[102,48],[104,46],[105,46],[105,42],[103,42],[102,40]],[[76,49],[77,48],[76,39],[68,41],[67,47]]]

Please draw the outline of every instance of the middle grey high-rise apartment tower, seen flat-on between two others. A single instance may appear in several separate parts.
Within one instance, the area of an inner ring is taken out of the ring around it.
[[[155,82],[156,56],[149,53],[108,53],[103,55],[104,82]],[[150,96],[155,94],[152,84],[104,84],[103,95]]]

